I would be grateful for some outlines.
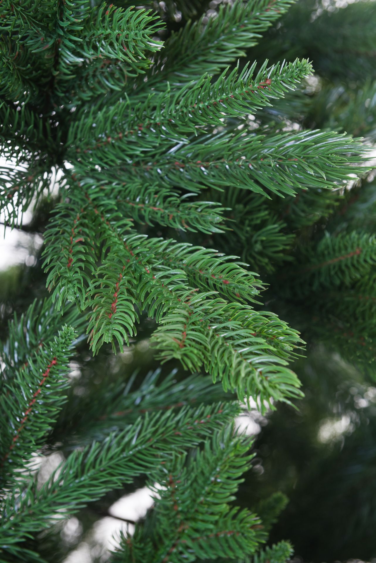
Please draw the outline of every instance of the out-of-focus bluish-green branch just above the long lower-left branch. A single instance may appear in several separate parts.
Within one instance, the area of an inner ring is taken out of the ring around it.
[[[67,447],[87,444],[92,439],[103,440],[115,428],[124,430],[145,414],[178,412],[186,406],[234,400],[220,383],[213,385],[212,379],[202,374],[180,379],[174,369],[162,378],[158,368],[147,373],[133,390],[137,375],[134,372],[127,381],[109,383],[105,390],[93,390],[81,397],[79,403],[74,400],[66,403],[49,443],[57,441]]]

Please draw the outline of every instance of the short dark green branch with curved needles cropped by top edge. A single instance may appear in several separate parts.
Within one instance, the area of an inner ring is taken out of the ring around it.
[[[127,77],[144,73],[150,65],[148,52],[162,47],[153,39],[160,29],[156,19],[149,11],[106,2],[92,8],[85,0],[64,3],[62,28],[57,28],[61,43],[56,101],[69,106],[73,92],[89,100],[109,88],[121,91]]]

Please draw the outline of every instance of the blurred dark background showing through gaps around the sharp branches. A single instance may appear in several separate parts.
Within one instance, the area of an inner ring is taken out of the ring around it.
[[[196,19],[204,10],[211,17],[217,4],[195,0],[159,2],[153,6],[171,21],[169,29],[178,29],[187,18]],[[294,60],[297,56],[308,57],[313,62],[315,75],[286,101],[281,100],[273,108],[260,112],[262,117],[254,122],[254,128],[275,127],[278,123],[281,130],[302,126],[330,128],[363,136],[374,143],[375,29],[374,2],[299,0],[264,35],[259,45],[247,53],[246,60],[262,61],[267,56],[271,62],[276,62]],[[241,254],[252,269],[261,274],[261,279],[270,283],[265,306],[272,302],[273,310],[293,327],[300,328],[307,341],[306,357],[292,366],[305,392],[297,409],[280,404],[275,412],[269,412],[265,417],[251,410],[244,412],[243,422],[239,421],[248,429],[246,431],[256,434],[257,439],[253,468],[241,485],[236,503],[253,507],[276,490],[285,493],[289,504],[272,529],[271,542],[290,539],[296,561],[319,563],[376,558],[374,352],[371,347],[369,350],[361,347],[360,351],[349,354],[350,340],[338,339],[330,328],[328,321],[333,311],[320,305],[317,293],[288,294],[288,281],[284,278],[285,267],[291,256],[296,260],[299,245],[304,248],[308,242],[320,238],[324,231],[339,233],[351,224],[355,230],[357,225],[362,229],[366,227],[369,233],[374,232],[376,191],[373,173],[361,184],[349,187],[351,190],[344,190],[339,197],[329,192],[325,198],[322,194],[315,198],[314,191],[303,194],[302,200],[304,196],[306,199],[295,209],[290,209],[288,198],[284,202],[277,199],[265,203],[250,194],[236,202],[231,189],[221,196],[221,201],[234,209],[231,217],[234,225],[228,236],[230,251]],[[355,206],[349,205],[353,198]],[[41,244],[38,241],[46,227],[51,204],[51,199],[42,199],[29,222],[24,222],[20,238],[15,243],[9,242],[7,233],[5,243],[14,244],[14,247],[8,247],[8,252],[11,248],[20,260],[15,260],[9,267],[2,265],[0,271],[1,337],[5,336],[7,320],[14,311],[22,312],[35,297],[44,296],[45,279],[41,273]],[[252,208],[252,216],[244,211],[247,206]],[[273,221],[270,206],[274,212]],[[255,213],[255,209],[259,209],[259,213]],[[260,225],[264,226],[262,231]],[[182,240],[194,241],[185,233],[179,233],[179,236]],[[276,238],[278,244],[275,245]],[[215,238],[208,237],[207,245],[215,247],[215,244]],[[290,249],[293,249],[292,255],[287,254]],[[0,252],[6,252],[6,248],[0,247]],[[337,303],[338,288],[322,291],[326,303]],[[367,305],[366,311],[372,312],[372,307],[369,309]],[[368,330],[376,330],[375,317],[366,320]],[[145,318],[131,346],[117,356],[109,347],[104,347],[93,359],[86,342],[80,343],[68,403],[72,413],[71,426],[67,428],[58,423],[51,437],[51,444],[60,445],[59,452],[64,454],[64,448],[69,448],[69,444],[64,443],[64,436],[67,433],[74,435],[75,423],[85,401],[100,400],[102,388],[119,379],[127,380],[135,370],[136,381],[141,381],[149,370],[158,367],[148,340],[153,326],[153,321]],[[369,367],[356,361],[359,354],[362,357],[369,355]],[[174,368],[177,366],[173,362],[164,365],[162,377]],[[183,377],[180,368],[175,377]],[[65,420],[65,414],[61,414],[61,421]],[[44,463],[54,463],[54,455],[59,457],[59,452],[46,450],[46,454],[51,455]],[[138,486],[142,488],[144,482],[140,480]],[[48,561],[67,563],[105,561],[105,546],[101,551],[96,542],[91,544],[91,538],[102,533],[98,527],[102,519],[111,515],[116,520],[110,507],[130,491],[131,488],[112,491],[82,510],[77,517],[48,533],[43,532],[39,538],[43,541],[38,547],[41,555]],[[119,520],[122,524],[122,519]],[[96,547],[91,549],[94,544]],[[75,559],[69,555],[73,552]]]

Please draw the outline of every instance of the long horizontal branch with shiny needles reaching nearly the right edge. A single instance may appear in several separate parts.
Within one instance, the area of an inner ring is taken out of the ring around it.
[[[117,166],[124,175],[159,182],[161,187],[198,193],[230,184],[267,196],[270,192],[283,196],[295,195],[299,189],[329,189],[367,170],[359,166],[366,153],[359,141],[326,131],[274,137],[218,133],[182,145],[160,155],[158,161],[137,155],[137,166],[127,162]],[[106,154],[110,156],[110,150]]]

